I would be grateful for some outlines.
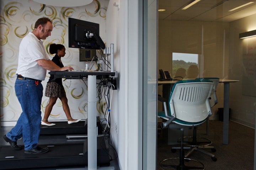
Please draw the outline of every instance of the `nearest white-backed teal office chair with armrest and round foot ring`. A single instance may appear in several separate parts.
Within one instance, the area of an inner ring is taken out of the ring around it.
[[[164,104],[164,112],[159,112],[158,117],[166,120],[161,123],[161,128],[178,128],[181,130],[181,147],[179,158],[168,158],[162,160],[160,167],[175,168],[178,170],[204,169],[203,163],[185,158],[183,149],[183,131],[186,127],[193,127],[204,123],[212,115],[209,103],[213,82],[210,80],[181,80],[172,87],[170,98],[159,97]],[[166,102],[169,104],[167,111]],[[167,164],[173,159],[179,159],[178,165]],[[186,166],[184,160],[192,160],[200,166]]]

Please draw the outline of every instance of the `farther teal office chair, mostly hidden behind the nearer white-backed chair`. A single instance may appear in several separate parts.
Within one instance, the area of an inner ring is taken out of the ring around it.
[[[211,80],[213,81],[213,88],[210,93],[209,102],[210,107],[213,107],[215,104],[218,103],[217,95],[216,95],[216,89],[219,84],[219,78],[211,77],[211,78],[197,78],[198,80]],[[209,119],[206,120],[206,134],[208,134],[208,124]],[[212,152],[216,152],[216,149],[212,145],[212,141],[205,137],[198,137],[197,136],[197,129],[196,126],[193,127],[193,136],[185,136],[183,137],[183,140],[186,140],[186,144],[188,147],[184,147],[184,149],[188,149],[189,151],[186,153],[185,158],[188,158],[193,151],[200,151],[204,154],[207,154],[211,157],[213,161],[217,161],[217,158],[214,154],[205,151],[204,149],[211,149]],[[180,142],[181,139],[178,140]],[[180,147],[172,147],[171,151],[176,152],[176,149],[180,149]]]

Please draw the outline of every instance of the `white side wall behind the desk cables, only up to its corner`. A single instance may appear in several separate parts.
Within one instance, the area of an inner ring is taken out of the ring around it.
[[[113,93],[111,138],[118,154],[119,168],[127,169],[127,52],[126,13],[124,4],[114,7],[110,0],[106,17],[106,47],[114,44],[114,70],[118,73],[117,90]],[[116,132],[115,126],[118,126]]]

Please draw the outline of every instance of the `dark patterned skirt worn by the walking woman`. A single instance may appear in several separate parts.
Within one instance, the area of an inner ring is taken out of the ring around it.
[[[46,97],[65,97],[66,92],[63,85],[59,85],[56,82],[50,82],[46,85],[45,91]]]

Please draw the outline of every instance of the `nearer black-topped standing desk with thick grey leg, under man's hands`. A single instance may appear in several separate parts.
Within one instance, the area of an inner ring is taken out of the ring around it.
[[[87,141],[88,141],[88,170],[111,170],[113,167],[98,167],[97,168],[97,98],[96,98],[96,79],[97,77],[110,78],[117,77],[117,72],[85,72],[85,71],[51,71],[49,74],[53,74],[54,78],[66,78],[66,79],[84,79],[88,78],[88,117],[87,117]]]

